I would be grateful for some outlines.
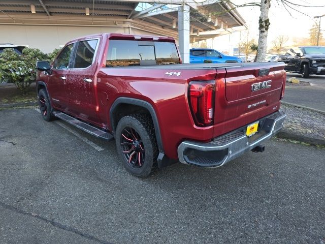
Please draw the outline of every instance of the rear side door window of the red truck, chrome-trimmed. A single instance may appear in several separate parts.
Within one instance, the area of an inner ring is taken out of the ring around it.
[[[97,42],[98,40],[88,40],[79,42],[75,58],[75,69],[83,69],[91,66]]]

